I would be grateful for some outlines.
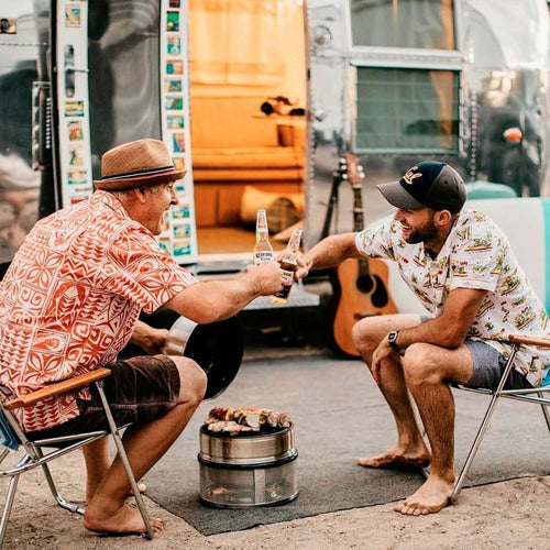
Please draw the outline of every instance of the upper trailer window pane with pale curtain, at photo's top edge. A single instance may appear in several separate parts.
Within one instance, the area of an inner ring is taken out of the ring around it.
[[[355,46],[454,50],[452,0],[350,0]]]

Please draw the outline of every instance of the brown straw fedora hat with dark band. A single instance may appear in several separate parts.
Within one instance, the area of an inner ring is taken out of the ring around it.
[[[138,140],[109,150],[101,157],[101,179],[97,189],[120,191],[142,185],[182,179],[186,170],[174,167],[168,147],[160,140]]]

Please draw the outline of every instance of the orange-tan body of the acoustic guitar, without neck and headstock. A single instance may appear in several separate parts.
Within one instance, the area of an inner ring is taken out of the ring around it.
[[[365,260],[344,260],[334,268],[332,277],[332,336],[338,348],[353,356],[359,356],[359,352],[353,344],[351,332],[359,320],[364,317],[397,314],[387,288],[387,265],[382,260],[369,260],[369,274],[362,275],[360,262]],[[365,277],[370,277],[370,280]]]

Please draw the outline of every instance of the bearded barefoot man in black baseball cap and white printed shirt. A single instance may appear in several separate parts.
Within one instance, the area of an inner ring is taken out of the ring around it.
[[[299,258],[296,276],[350,257],[382,257],[397,262],[403,279],[426,308],[426,316],[376,315],[373,306],[373,315],[352,330],[398,433],[394,447],[359,459],[359,464],[430,465],[424,485],[395,506],[396,512],[419,516],[444,507],[455,483],[454,403],[448,384],[496,388],[510,351],[507,337],[549,338],[550,323],[501,229],[485,213],[462,209],[466,191],[454,168],[420,162],[398,182],[377,188],[396,207],[393,219],[320,241]],[[537,387],[549,364],[548,351],[522,348],[505,387]]]

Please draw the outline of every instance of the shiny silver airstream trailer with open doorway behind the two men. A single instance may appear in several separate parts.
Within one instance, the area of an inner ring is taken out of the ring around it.
[[[4,267],[144,136],[188,170],[160,244],[198,273],[250,262],[257,208],[278,248],[352,230],[349,152],[367,221],[419,157],[548,193],[542,0],[0,0],[0,23]]]

